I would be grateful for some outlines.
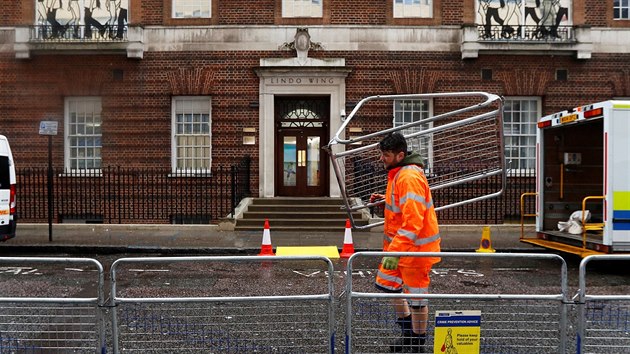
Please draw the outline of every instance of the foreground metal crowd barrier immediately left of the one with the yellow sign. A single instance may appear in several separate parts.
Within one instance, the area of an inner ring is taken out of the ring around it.
[[[291,267],[333,274],[326,257],[119,259],[111,267],[114,353],[332,353],[333,277],[303,294],[301,282],[314,278]],[[142,285],[148,272],[159,274],[151,278],[159,287]]]

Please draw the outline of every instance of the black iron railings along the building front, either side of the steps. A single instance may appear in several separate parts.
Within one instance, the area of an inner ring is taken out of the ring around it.
[[[158,170],[106,167],[99,172],[53,173],[53,222],[173,223],[216,222],[233,213],[240,201],[251,196],[251,159],[246,156],[212,173],[169,174]],[[382,167],[381,167],[382,168]],[[48,217],[47,170],[17,170],[17,208],[20,222],[46,222]],[[499,181],[481,181],[436,190],[438,205],[449,198],[473,196],[497,188]],[[439,210],[443,224],[501,224],[520,220],[519,198],[535,190],[533,171],[510,171],[503,194],[469,205]],[[364,193],[365,201],[370,191]],[[525,204],[532,213],[533,201]],[[374,216],[382,216],[372,208]]]

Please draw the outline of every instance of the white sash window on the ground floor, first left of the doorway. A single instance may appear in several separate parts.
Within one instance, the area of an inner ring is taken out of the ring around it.
[[[210,171],[210,97],[173,98],[173,170]]]

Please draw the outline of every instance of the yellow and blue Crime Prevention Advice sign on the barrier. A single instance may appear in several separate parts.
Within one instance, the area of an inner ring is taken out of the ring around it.
[[[479,354],[481,311],[437,311],[434,354]]]

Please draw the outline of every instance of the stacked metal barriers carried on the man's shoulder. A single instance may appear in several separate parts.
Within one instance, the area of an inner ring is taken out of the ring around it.
[[[397,100],[443,100],[457,108],[422,120],[407,118],[405,124],[371,131],[375,129],[374,118],[366,119],[359,112],[370,104]],[[383,95],[361,100],[325,147],[353,227],[369,229],[382,224],[358,226],[352,212],[384,203],[370,202],[370,195],[385,193],[387,175],[379,161],[378,142],[391,132],[402,133],[409,150],[425,160],[423,167],[436,211],[501,195],[506,178],[502,112],[501,97],[485,92]],[[350,135],[351,128],[362,135]],[[453,188],[462,184],[470,186],[464,194],[461,188]]]

